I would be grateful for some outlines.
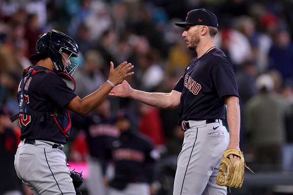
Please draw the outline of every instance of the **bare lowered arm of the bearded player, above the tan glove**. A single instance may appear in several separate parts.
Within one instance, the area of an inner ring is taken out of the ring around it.
[[[239,98],[230,96],[225,99],[227,110],[227,122],[229,127],[230,141],[228,148],[240,150],[240,107]]]

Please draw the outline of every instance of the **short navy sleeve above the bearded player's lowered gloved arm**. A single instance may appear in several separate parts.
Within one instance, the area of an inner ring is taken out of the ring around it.
[[[239,97],[234,70],[229,63],[220,63],[211,70],[213,86],[224,103],[224,96]]]

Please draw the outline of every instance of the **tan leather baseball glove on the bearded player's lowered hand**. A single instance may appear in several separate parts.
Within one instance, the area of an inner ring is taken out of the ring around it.
[[[229,159],[228,157],[231,154],[240,157],[240,159]],[[244,179],[244,167],[253,172],[246,166],[243,152],[236,149],[226,150],[222,156],[219,173],[216,177],[217,184],[220,186],[241,188]]]

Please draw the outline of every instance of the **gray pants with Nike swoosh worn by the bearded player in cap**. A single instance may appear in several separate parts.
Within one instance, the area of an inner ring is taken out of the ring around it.
[[[227,188],[216,183],[216,176],[229,133],[221,123],[201,121],[190,128],[184,132],[173,195],[226,195]]]

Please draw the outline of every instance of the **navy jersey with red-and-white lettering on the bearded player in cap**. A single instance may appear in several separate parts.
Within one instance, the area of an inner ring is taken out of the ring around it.
[[[224,119],[224,96],[237,96],[232,62],[218,48],[193,59],[173,90],[181,92],[182,121]]]

